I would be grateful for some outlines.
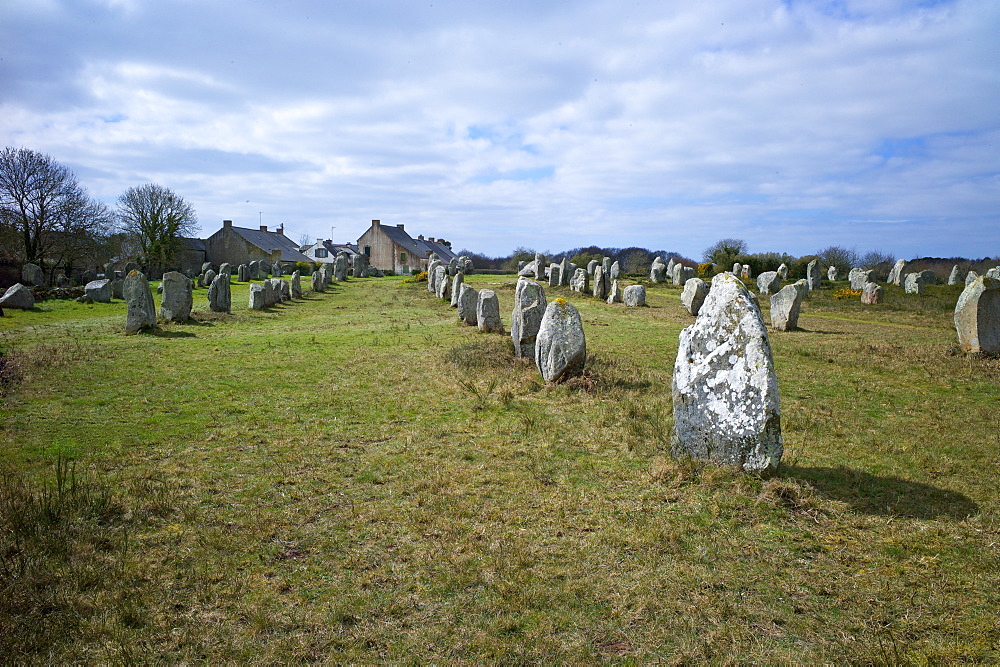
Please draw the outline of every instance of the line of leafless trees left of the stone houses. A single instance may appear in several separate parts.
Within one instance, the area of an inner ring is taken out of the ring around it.
[[[128,188],[110,207],[67,166],[29,148],[0,152],[0,261],[36,264],[51,280],[75,268],[129,259],[148,272],[173,266],[197,229],[194,207],[169,188]]]

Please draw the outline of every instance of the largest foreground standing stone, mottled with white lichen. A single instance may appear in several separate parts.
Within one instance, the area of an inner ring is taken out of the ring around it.
[[[732,274],[712,280],[681,332],[673,375],[673,454],[773,471],[783,452],[778,379],[753,295]]]

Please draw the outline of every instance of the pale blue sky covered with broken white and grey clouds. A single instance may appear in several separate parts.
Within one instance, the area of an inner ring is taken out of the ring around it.
[[[0,137],[113,205],[490,256],[1000,256],[996,0],[3,0]]]

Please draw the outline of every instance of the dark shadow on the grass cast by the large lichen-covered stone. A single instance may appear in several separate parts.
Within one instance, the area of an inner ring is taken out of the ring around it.
[[[795,465],[782,465],[780,475],[808,482],[827,498],[847,503],[860,514],[961,520],[979,513],[979,505],[961,493],[900,477]]]

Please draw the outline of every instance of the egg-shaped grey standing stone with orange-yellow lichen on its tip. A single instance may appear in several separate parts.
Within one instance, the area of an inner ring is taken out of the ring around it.
[[[587,341],[580,313],[566,299],[545,309],[535,343],[535,365],[546,382],[562,382],[583,373]]]

